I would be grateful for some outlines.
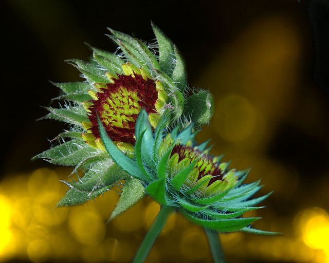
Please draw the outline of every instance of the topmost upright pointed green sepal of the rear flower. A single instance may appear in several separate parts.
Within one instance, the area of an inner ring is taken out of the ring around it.
[[[159,45],[159,64],[160,70],[172,75],[174,57],[174,44],[165,33],[163,33],[154,23],[152,23],[153,32]]]

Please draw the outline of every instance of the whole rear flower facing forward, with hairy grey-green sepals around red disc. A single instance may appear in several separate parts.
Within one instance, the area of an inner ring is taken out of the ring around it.
[[[109,39],[118,46],[116,52],[90,46],[93,58],[89,62],[68,60],[82,73],[84,81],[53,83],[63,93],[54,100],[64,103],[59,108],[46,107],[49,114],[43,119],[63,121],[69,129],[51,141],[57,144],[34,158],[75,166],[72,174],[85,173],[76,180],[63,181],[70,189],[58,206],[83,203],[118,183],[121,188],[122,180],[130,183],[120,196],[117,214],[144,195],[140,182],[121,171],[105,151],[98,131],[98,116],[107,136],[130,157],[134,156],[135,125],[142,108],[148,113],[153,129],[165,111],[170,112],[168,130],[177,123],[182,127],[191,122],[202,126],[210,121],[211,93],[188,87],[185,62],[178,49],[154,24],[152,29],[156,36],[154,43],[109,29]]]

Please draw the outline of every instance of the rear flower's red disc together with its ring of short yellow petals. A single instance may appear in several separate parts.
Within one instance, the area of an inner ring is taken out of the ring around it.
[[[119,147],[128,148],[135,144],[135,123],[141,108],[156,127],[168,96],[160,81],[129,63],[122,65],[122,74],[107,77],[109,83],[97,83],[97,91],[89,90],[93,100],[84,102],[89,122],[82,123],[87,131],[82,137],[90,146],[104,150],[97,125],[99,116],[108,136]]]

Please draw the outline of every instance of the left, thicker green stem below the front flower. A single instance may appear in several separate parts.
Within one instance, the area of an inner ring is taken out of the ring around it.
[[[155,218],[150,230],[144,237],[140,247],[134,258],[134,263],[141,263],[148,257],[150,250],[153,246],[155,239],[161,233],[162,228],[165,226],[168,217],[174,212],[174,208],[170,206],[161,206],[160,212]]]

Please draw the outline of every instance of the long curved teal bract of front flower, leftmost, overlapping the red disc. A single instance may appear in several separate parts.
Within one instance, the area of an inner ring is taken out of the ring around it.
[[[120,149],[113,143],[113,141],[108,137],[106,130],[98,116],[97,123],[101,139],[109,156],[111,156],[112,159],[131,176],[141,181],[146,181],[147,177],[142,171],[140,171],[137,163],[126,155],[124,155],[120,151]]]

